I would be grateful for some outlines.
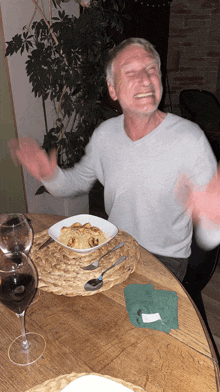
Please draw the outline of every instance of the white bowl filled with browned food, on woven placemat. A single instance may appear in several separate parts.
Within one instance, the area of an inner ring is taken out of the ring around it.
[[[89,214],[63,219],[48,230],[49,236],[60,245],[81,254],[94,252],[117,233],[118,228],[111,222]]]

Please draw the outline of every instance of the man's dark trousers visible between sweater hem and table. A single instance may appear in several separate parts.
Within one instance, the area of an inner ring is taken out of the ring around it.
[[[188,258],[168,257],[153,254],[158,260],[161,261],[179,280],[183,281],[186,274]]]

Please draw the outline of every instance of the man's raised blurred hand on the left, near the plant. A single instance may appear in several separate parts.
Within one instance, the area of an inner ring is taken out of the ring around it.
[[[16,163],[21,163],[29,173],[41,181],[52,177],[57,167],[57,152],[51,150],[49,155],[39,147],[35,140],[24,137],[9,142],[11,156]]]

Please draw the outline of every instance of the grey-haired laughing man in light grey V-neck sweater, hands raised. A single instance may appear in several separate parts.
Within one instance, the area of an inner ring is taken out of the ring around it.
[[[109,220],[182,281],[190,255],[192,212],[200,237],[207,239],[210,232],[200,225],[207,193],[198,192],[216,172],[213,152],[196,124],[158,109],[160,59],[148,41],[129,38],[119,44],[110,53],[106,74],[109,94],[119,101],[123,115],[94,131],[74,168],[61,170],[56,152],[48,157],[29,139],[12,141],[12,154],[55,196],[88,192],[98,179],[104,185]],[[199,199],[201,208],[196,210]]]

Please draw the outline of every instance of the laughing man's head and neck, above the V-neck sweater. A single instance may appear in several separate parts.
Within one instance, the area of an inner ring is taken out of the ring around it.
[[[111,98],[122,107],[125,132],[135,141],[155,129],[166,115],[158,110],[163,90],[158,55],[151,45],[126,44],[127,41],[124,49],[122,44],[113,52],[107,83]],[[133,126],[137,121],[138,132]]]

